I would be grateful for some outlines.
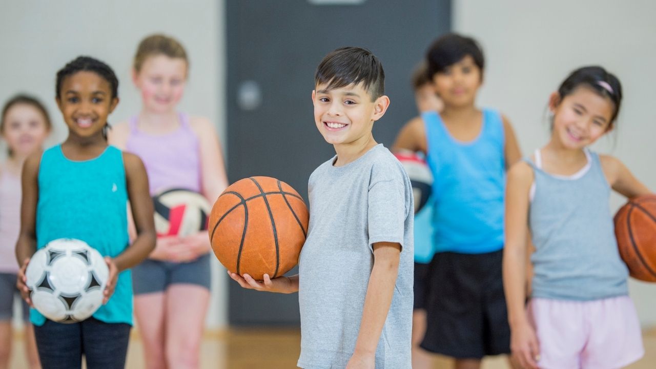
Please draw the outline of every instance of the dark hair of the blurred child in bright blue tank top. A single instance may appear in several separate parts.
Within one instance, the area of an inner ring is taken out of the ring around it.
[[[474,64],[482,73],[485,68],[485,58],[475,39],[457,33],[442,35],[430,45],[426,52],[428,76],[432,78],[436,73],[444,72],[446,68],[461,61],[467,55],[474,59]]]

